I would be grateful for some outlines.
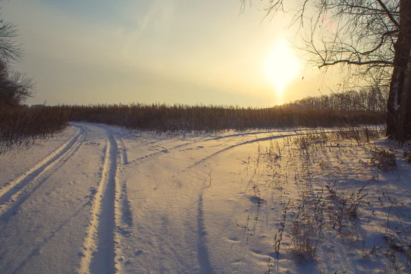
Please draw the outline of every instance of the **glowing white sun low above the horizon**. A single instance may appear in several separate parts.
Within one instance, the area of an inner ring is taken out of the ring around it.
[[[288,47],[286,40],[275,43],[265,60],[264,71],[266,79],[274,85],[279,94],[282,94],[291,80],[297,77],[299,60]]]

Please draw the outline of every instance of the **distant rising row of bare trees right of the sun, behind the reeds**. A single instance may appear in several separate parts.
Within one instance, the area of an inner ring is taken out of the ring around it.
[[[369,88],[360,91],[349,90],[330,95],[306,97],[288,103],[292,108],[306,110],[369,110],[372,112],[386,112],[388,89]]]

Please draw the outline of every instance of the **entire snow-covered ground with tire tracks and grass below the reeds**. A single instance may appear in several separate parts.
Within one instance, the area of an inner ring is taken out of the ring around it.
[[[0,273],[409,273],[406,147],[363,139],[73,123],[0,156]]]

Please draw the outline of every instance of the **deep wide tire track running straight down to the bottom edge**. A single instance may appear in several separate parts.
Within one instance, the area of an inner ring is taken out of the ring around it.
[[[110,129],[103,160],[101,179],[97,186],[90,210],[90,223],[87,236],[84,239],[82,259],[79,273],[116,273],[120,271],[119,234],[116,225],[120,210],[118,184],[116,174],[118,169],[117,155],[119,147]]]

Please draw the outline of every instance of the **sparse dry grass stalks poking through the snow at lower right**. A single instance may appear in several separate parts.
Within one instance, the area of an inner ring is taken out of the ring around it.
[[[281,141],[271,140],[266,147],[259,144],[256,157],[243,161],[247,166],[253,166],[253,162],[260,166],[260,184],[278,190],[273,192],[278,195],[275,199],[289,201],[282,216],[275,217],[280,221],[272,234],[275,256],[271,256],[269,265],[283,252],[299,263],[321,261],[332,256],[327,253],[329,247],[346,243],[347,252],[357,254],[360,260],[389,260],[387,273],[409,271],[409,210],[388,195],[388,190],[383,190],[378,202],[375,200],[381,190],[375,173],[395,169],[397,157],[392,149],[373,142],[382,137],[381,127],[313,130]],[[404,151],[404,158],[411,154],[408,149]],[[359,152],[371,163],[359,161]],[[319,172],[327,174],[322,177]],[[295,186],[297,192],[293,193]],[[385,221],[384,217],[379,219],[384,214]],[[373,225],[375,230],[370,229]]]

